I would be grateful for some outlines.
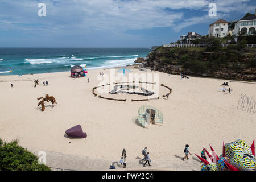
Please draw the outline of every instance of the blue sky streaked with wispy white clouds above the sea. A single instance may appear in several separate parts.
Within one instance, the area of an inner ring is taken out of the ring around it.
[[[46,17],[38,4],[46,4]],[[216,3],[217,16],[208,15]],[[250,0],[0,0],[0,47],[151,47],[217,19],[254,13]]]

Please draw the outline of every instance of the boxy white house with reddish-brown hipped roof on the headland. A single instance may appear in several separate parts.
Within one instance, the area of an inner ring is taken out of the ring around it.
[[[216,22],[210,24],[209,34],[216,38],[223,38],[228,35],[228,23],[223,19],[219,19]]]

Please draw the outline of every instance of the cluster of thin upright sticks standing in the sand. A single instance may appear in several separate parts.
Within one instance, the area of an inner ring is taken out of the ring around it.
[[[246,96],[246,94],[241,93],[240,98],[238,99],[237,102],[237,109],[242,109],[247,111],[247,113],[256,113],[255,111],[256,107],[256,100],[254,99],[253,96]]]

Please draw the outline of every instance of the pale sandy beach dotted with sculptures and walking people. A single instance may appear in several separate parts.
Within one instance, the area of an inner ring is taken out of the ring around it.
[[[18,139],[19,144],[30,151],[70,156],[65,158],[68,162],[56,162],[49,157],[51,167],[93,170],[108,169],[110,163],[119,161],[123,148],[127,151],[127,166],[144,169],[140,159],[145,146],[152,166],[200,170],[201,163],[194,154],[200,154],[203,147],[210,151],[211,144],[220,155],[223,141],[244,139],[250,145],[255,139],[256,113],[237,109],[241,93],[256,97],[255,82],[200,77],[181,80],[179,75],[129,69],[139,74],[158,73],[160,99],[131,102],[144,97],[125,93],[111,97],[126,98],[126,102],[94,97],[92,89],[101,82],[97,80],[99,73],[110,75],[110,69],[89,70],[86,77],[76,79],[70,78],[69,72],[0,76],[0,138]],[[39,79],[36,88],[34,79]],[[48,86],[43,86],[44,80],[49,82]],[[231,94],[219,90],[223,82],[229,83],[226,88],[233,89]],[[168,100],[162,97],[168,89],[160,84],[172,88]],[[37,98],[45,94],[54,96],[57,105],[52,108],[51,102],[46,102],[46,110],[42,112]],[[162,111],[162,126],[137,125],[138,109],[145,104]],[[65,130],[79,124],[87,138],[64,137]],[[189,144],[193,155],[183,161],[185,144]],[[82,167],[70,160],[72,156],[84,159]]]

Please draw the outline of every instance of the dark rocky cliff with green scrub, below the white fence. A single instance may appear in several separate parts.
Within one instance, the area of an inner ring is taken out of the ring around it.
[[[155,71],[229,80],[256,81],[256,49],[236,48],[208,51],[207,48],[158,48],[140,67]]]

